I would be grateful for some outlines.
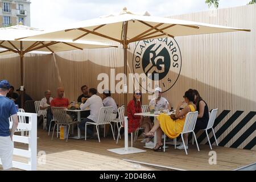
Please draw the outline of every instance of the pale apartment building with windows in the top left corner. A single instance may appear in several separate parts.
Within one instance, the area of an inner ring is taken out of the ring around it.
[[[30,0],[0,0],[0,27],[19,24],[30,27]]]

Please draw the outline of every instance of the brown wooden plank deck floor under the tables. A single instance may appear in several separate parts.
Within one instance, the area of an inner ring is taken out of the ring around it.
[[[185,170],[233,170],[256,162],[256,151],[240,150],[236,148],[216,147],[217,164],[210,165],[208,160],[209,146],[201,145],[200,152],[196,146],[189,145],[188,155],[184,150],[175,150],[173,146],[166,152],[154,152],[143,148],[141,142],[136,142],[135,147],[147,150],[147,152],[129,155],[118,155],[108,151],[110,148],[122,148],[123,138],[118,144],[112,138],[101,137],[101,143],[96,139],[76,140],[68,139],[68,142],[54,137],[48,137],[46,131],[38,131],[38,152],[46,152],[46,164],[38,163],[38,170],[163,170],[135,163],[126,162],[123,159],[138,162],[158,164],[172,168]],[[19,148],[27,148],[26,144],[16,144]],[[17,158],[15,160],[26,161]],[[40,156],[38,156],[40,160]]]

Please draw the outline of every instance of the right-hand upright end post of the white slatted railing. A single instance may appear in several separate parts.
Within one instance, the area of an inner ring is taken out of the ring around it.
[[[31,114],[31,117],[29,117],[29,123],[31,124],[31,131],[29,131],[28,139],[28,151],[31,151],[31,158],[28,159],[28,164],[31,164],[31,171],[36,171],[36,163],[37,163],[37,140],[38,140],[38,117],[36,114]]]

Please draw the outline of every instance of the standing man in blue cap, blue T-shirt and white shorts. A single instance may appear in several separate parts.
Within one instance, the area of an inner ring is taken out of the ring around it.
[[[0,81],[0,158],[4,170],[13,167],[13,134],[18,127],[18,116],[14,101],[6,97],[10,90],[7,80]],[[9,117],[13,118],[10,131]]]

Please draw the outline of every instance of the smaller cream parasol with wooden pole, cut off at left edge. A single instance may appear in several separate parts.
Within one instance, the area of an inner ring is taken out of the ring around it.
[[[77,40],[18,40],[20,37],[42,34],[44,31],[18,24],[16,26],[0,28],[0,56],[10,53],[18,53],[20,57],[20,85],[24,84],[23,77],[23,57],[25,53],[33,51],[43,52],[60,52],[71,51],[74,49],[84,48],[106,48],[117,47],[105,43],[97,43],[92,41]],[[23,92],[22,92],[22,108],[23,108]]]

